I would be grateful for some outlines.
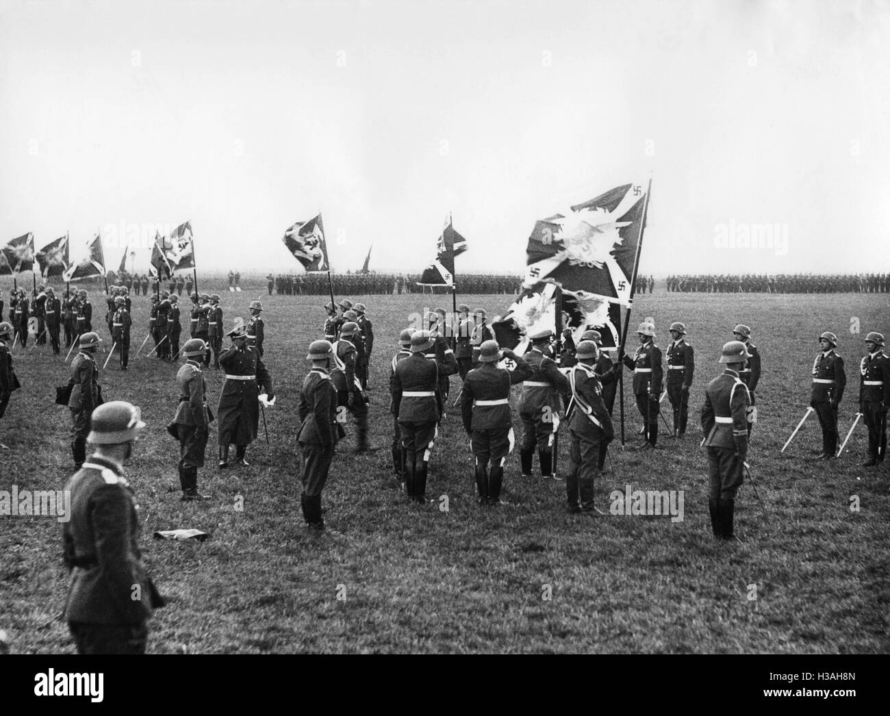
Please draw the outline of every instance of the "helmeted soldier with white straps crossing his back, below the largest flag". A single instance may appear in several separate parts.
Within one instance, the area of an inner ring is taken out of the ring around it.
[[[578,362],[568,374],[571,409],[568,415],[569,474],[565,480],[570,514],[603,511],[594,500],[595,480],[602,469],[605,447],[615,437],[611,415],[603,402],[603,387],[596,370],[602,351],[594,341],[581,340],[575,350]]]

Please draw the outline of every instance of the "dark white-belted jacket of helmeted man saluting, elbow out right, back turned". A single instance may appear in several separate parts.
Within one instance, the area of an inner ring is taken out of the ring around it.
[[[461,397],[464,430],[507,430],[513,421],[510,415],[510,386],[528,378],[531,366],[519,356],[513,370],[498,368],[494,363],[481,363],[466,374]],[[494,401],[495,405],[484,405]]]

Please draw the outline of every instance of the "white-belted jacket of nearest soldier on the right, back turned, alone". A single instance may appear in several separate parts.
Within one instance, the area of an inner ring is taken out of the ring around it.
[[[727,368],[708,383],[701,406],[701,429],[705,445],[735,450],[748,455],[748,387],[740,375]]]

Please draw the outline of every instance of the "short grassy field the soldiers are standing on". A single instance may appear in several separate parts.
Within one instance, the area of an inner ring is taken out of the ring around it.
[[[223,294],[227,325],[247,314],[250,298],[265,293],[259,282],[248,288]],[[150,651],[890,650],[887,467],[859,466],[862,425],[842,459],[815,461],[810,451],[821,447],[821,438],[814,418],[787,455],[779,453],[808,405],[823,330],[840,336],[847,364],[850,388],[840,411],[845,433],[857,406],[862,336],[872,329],[890,334],[886,294],[731,296],[661,289],[638,297],[633,325],[653,316],[662,347],[671,321],[683,320],[688,328],[697,358],[691,434],[677,443],[663,437],[654,452],[635,452],[639,421],[628,392],[627,449],[613,446],[611,471],[599,480],[597,495],[606,507],[611,490],[628,484],[684,490],[682,522],[567,515],[564,483],[523,481],[517,454],[505,481],[504,497],[513,506],[481,509],[456,413],[441,425],[428,486],[428,496],[447,496],[448,511],[441,503],[406,503],[389,466],[386,371],[399,330],[430,300],[362,300],[376,329],[372,436],[385,449],[352,455],[352,436],[339,446],[323,499],[328,525],[340,537],[307,535],[299,506],[296,398],[306,348],[320,334],[323,299],[263,296],[266,363],[279,394],[266,411],[270,443],[261,426],[260,440],[248,451],[252,465],[219,472],[212,434],[208,467],[199,473],[199,487],[212,495],[205,503],[179,501],[177,444],[164,430],[174,414],[175,367],[133,358],[124,374],[113,369],[112,358],[102,372],[106,399],[142,406],[149,423],[129,478],[141,505],[144,559],[169,601],[150,623]],[[491,316],[503,313],[510,297],[461,300]],[[435,301],[431,308],[448,299]],[[140,299],[134,349],[147,315],[148,301]],[[862,334],[850,333],[854,317]],[[769,515],[751,488],[742,487],[736,523],[745,542],[724,544],[710,533],[698,414],[704,386],[719,372],[718,351],[738,322],[752,327],[763,354],[760,422],[749,462]],[[107,338],[104,326],[101,331]],[[24,388],[0,422],[0,442],[9,448],[0,451],[0,489],[59,489],[71,472],[69,412],[53,404],[53,387],[67,381],[68,367],[48,347],[24,355],[18,350],[15,366]],[[211,370],[207,382],[215,402],[222,377]],[[456,394],[452,390],[452,400]],[[616,422],[617,412],[616,406]],[[518,433],[518,420],[516,427]],[[563,468],[566,455],[563,447]],[[851,510],[854,496],[859,511]],[[12,651],[72,652],[59,620],[67,587],[60,526],[46,517],[3,517],[0,525],[0,629],[8,632]],[[155,530],[174,527],[197,527],[211,536],[205,543],[151,538]]]

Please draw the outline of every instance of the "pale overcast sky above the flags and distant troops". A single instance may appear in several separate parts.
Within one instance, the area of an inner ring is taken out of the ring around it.
[[[458,276],[521,273],[651,173],[647,273],[890,270],[886,2],[0,7],[0,242],[98,227],[111,268],[190,220],[198,270],[298,271],[320,210],[335,270],[419,272],[450,211]]]

